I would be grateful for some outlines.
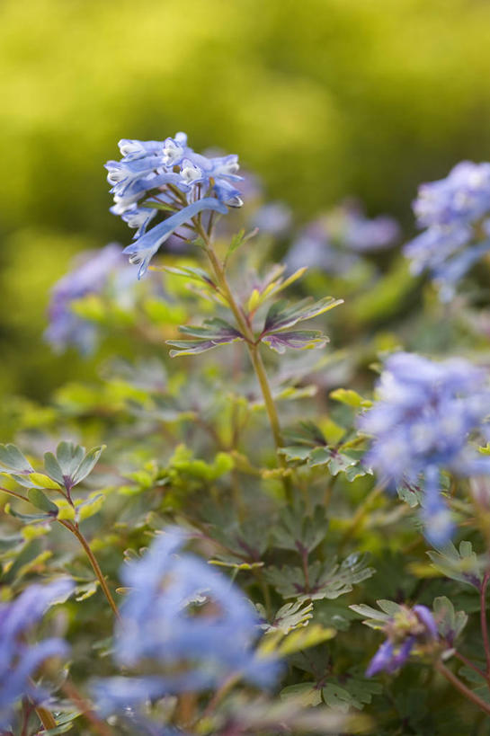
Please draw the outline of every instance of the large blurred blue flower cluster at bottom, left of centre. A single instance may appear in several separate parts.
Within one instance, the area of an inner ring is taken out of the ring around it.
[[[94,692],[104,713],[208,689],[232,675],[267,686],[278,674],[275,659],[254,652],[259,619],[252,604],[199,557],[177,554],[185,538],[182,530],[167,529],[122,572],[129,594],[115,660],[125,668],[146,663],[159,674],[97,681]]]

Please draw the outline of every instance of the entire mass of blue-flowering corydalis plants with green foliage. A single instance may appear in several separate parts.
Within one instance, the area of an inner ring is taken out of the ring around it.
[[[490,732],[490,164],[293,222],[120,141],[0,447],[0,732]],[[331,296],[332,295],[332,296]]]

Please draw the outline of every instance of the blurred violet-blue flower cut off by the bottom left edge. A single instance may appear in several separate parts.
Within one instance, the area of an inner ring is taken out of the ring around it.
[[[61,602],[73,590],[67,578],[49,585],[31,585],[10,603],[0,605],[0,728],[11,725],[13,706],[29,696],[38,704],[47,695],[35,687],[30,678],[51,657],[65,657],[67,644],[61,639],[45,639],[28,644],[25,634],[38,623],[48,608]]]

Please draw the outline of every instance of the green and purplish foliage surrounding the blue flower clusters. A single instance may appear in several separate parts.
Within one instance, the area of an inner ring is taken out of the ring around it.
[[[127,592],[118,587],[123,560],[176,523],[256,607],[260,650],[287,663],[277,694],[237,685],[200,721],[200,734],[238,723],[241,732],[269,736],[281,723],[298,733],[483,736],[476,706],[456,691],[449,701],[450,685],[433,677],[425,652],[395,678],[364,672],[390,616],[422,603],[436,618],[443,661],[490,701],[479,614],[490,489],[445,479],[459,531],[454,545],[427,549],[422,490],[380,492],[363,460],[367,439],[356,431],[387,352],[430,345],[444,354],[456,344],[485,355],[478,313],[469,302],[442,309],[430,289],[408,313],[405,295],[419,287],[396,257],[384,272],[371,263],[352,278],[304,269],[287,276],[267,265],[280,253],[271,238],[244,230],[231,246],[227,240],[218,255],[253,340],[227,309],[216,275],[198,258],[168,255],[130,305],[105,294],[77,302],[76,314],[101,334],[85,376],[59,386],[49,404],[4,404],[5,427],[16,436],[0,447],[4,599],[69,572],[76,594],[64,604],[65,626],[75,653],[66,674],[86,693],[89,676],[114,674],[112,621],[76,535],[119,601]],[[315,329],[303,330],[310,319]],[[325,347],[325,324],[334,347],[302,350]],[[278,453],[247,348],[261,352],[269,376]],[[206,713],[206,698],[193,707]],[[182,702],[150,708],[181,725],[184,710]],[[56,732],[93,732],[79,704],[61,712]],[[116,727],[131,733],[125,723]]]

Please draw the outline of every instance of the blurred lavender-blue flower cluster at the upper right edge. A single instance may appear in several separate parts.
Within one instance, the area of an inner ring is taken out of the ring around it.
[[[490,164],[462,161],[445,179],[422,184],[414,201],[424,229],[405,245],[414,274],[429,270],[443,301],[490,249]],[[470,245],[473,244],[473,245]],[[469,247],[468,247],[469,246]]]

